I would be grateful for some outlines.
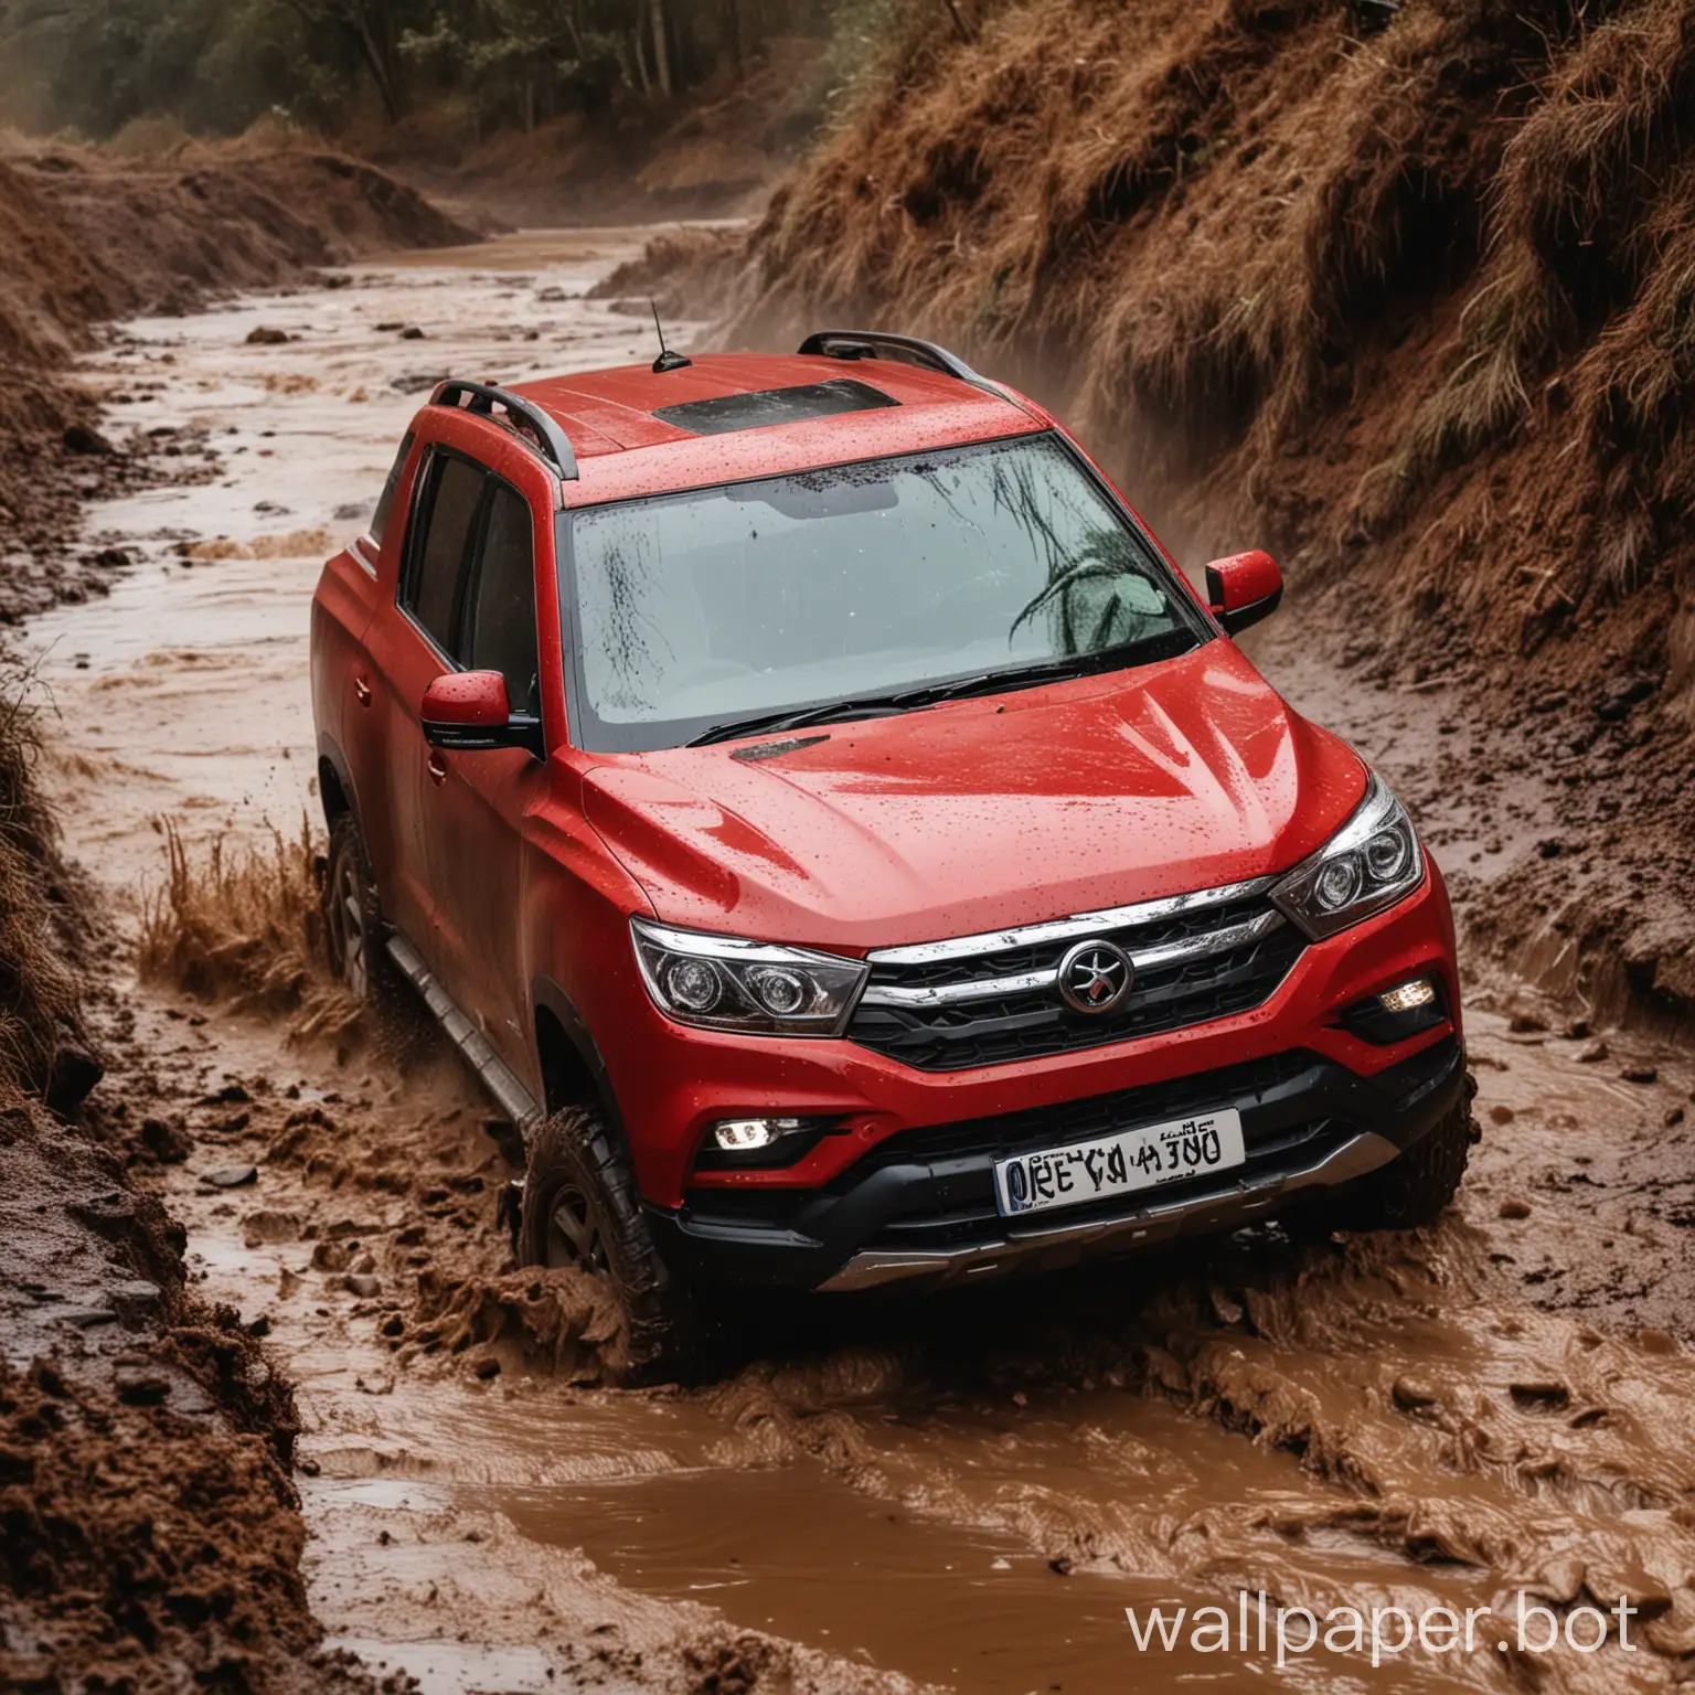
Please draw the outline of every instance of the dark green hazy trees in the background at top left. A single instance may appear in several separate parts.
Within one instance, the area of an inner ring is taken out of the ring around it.
[[[532,127],[729,92],[778,36],[834,37],[859,63],[885,17],[920,3],[0,0],[0,120],[105,139],[141,117],[234,134],[280,112],[336,131],[451,103],[478,131]]]

